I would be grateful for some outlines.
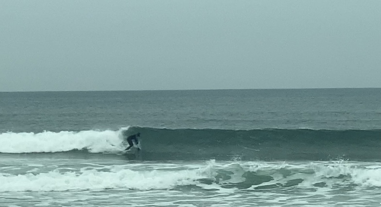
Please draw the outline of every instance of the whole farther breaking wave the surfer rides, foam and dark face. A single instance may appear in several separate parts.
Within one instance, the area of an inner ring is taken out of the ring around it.
[[[2,133],[0,153],[119,154],[123,130],[141,133],[144,160],[381,160],[381,130],[158,129]]]

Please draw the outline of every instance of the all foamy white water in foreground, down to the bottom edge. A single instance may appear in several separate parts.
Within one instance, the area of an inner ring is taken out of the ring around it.
[[[123,205],[126,200],[134,206],[188,206],[184,203],[369,206],[379,204],[380,200],[374,195],[381,192],[381,166],[366,162],[209,160],[126,164],[120,160],[98,160],[97,164],[67,159],[55,161],[65,164],[55,164],[45,159],[32,164],[28,159],[19,161],[19,165],[1,164],[0,201],[3,204],[13,198],[16,205],[23,206],[24,201],[18,198],[38,193],[55,199],[48,202],[37,196],[28,204],[106,205],[105,196],[111,194],[110,206]]]

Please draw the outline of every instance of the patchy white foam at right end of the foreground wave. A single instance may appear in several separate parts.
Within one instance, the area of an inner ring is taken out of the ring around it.
[[[229,170],[227,167],[228,165],[225,166],[226,170]],[[364,188],[381,187],[381,166],[374,163],[346,161],[313,162],[310,164],[307,162],[244,162],[236,168],[237,170],[243,168],[244,171],[248,170],[260,175],[270,175],[274,178],[273,181],[261,183],[258,186],[284,184],[293,179],[302,179],[303,182],[298,184],[302,188],[315,188],[313,185],[320,182],[326,183],[328,188],[349,184],[356,184]],[[290,174],[287,176],[281,174],[279,171],[281,169],[286,169]],[[234,173],[237,175],[237,172]]]

